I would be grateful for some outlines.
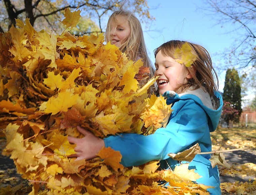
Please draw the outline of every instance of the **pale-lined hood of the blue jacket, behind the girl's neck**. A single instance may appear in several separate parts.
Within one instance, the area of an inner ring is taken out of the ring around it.
[[[185,93],[177,94],[174,91],[167,91],[163,94],[166,98],[166,103],[171,104],[179,100],[192,99],[199,104],[209,116],[208,121],[210,132],[216,130],[222,111],[223,100],[222,96],[218,92],[214,92],[214,96],[211,97],[209,93],[198,88],[196,90],[188,90]]]

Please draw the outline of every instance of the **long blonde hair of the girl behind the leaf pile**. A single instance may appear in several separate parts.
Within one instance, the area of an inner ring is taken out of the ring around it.
[[[120,51],[126,53],[130,60],[136,61],[142,58],[143,65],[150,68],[150,78],[154,76],[152,62],[148,56],[146,44],[144,41],[142,27],[138,18],[130,11],[119,10],[111,14],[107,22],[105,39],[111,40],[111,27],[117,24],[116,16],[125,17],[129,23],[131,33],[128,39],[119,47]]]

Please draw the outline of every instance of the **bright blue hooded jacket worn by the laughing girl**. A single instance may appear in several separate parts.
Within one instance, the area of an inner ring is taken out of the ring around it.
[[[167,104],[172,104],[172,112],[165,128],[159,128],[152,135],[120,134],[104,138],[105,147],[111,147],[122,154],[121,163],[126,166],[138,166],[152,160],[160,160],[160,167],[174,169],[179,165],[167,154],[184,151],[199,143],[201,152],[212,151],[210,132],[218,126],[223,101],[218,92],[215,97],[201,88],[189,90],[178,95],[173,91],[163,94]],[[210,154],[197,154],[189,163],[189,169],[195,169],[201,178],[196,182],[214,188],[207,190],[213,195],[221,194],[217,166],[212,168]]]

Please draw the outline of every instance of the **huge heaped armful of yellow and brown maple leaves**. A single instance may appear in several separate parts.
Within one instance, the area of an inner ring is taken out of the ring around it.
[[[62,21],[75,26],[79,12]],[[3,155],[32,184],[31,194],[201,194],[200,176],[184,164],[158,170],[159,161],[138,167],[120,164],[121,154],[102,148],[92,160],[76,160],[81,126],[104,138],[118,133],[148,135],[165,126],[171,112],[162,96],[148,96],[151,79],[141,60],[133,62],[103,34],[75,37],[36,32],[29,23],[0,34],[0,129]],[[170,186],[159,185],[165,180]],[[17,188],[18,189],[18,188]],[[11,192],[2,188],[1,192]],[[12,191],[13,192],[13,191]]]

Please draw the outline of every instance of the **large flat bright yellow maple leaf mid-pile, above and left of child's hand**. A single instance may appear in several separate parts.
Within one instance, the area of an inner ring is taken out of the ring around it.
[[[47,102],[43,102],[39,109],[45,113],[57,114],[66,112],[68,108],[76,104],[78,94],[72,94],[69,91],[60,92],[57,97],[50,97]]]

